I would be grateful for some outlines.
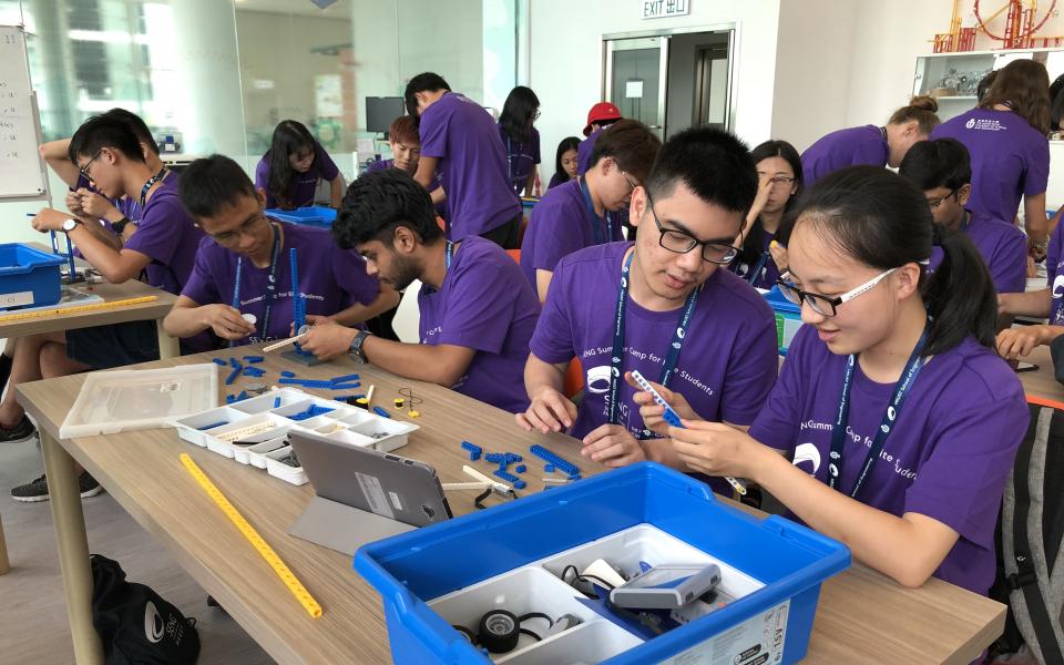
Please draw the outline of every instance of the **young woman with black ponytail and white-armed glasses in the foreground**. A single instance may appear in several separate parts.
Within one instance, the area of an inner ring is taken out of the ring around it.
[[[985,595],[1029,417],[993,350],[982,258],[932,222],[915,185],[879,167],[828,176],[794,214],[780,284],[806,325],[776,387],[748,433],[698,420],[665,390],[686,429],[667,427],[640,393],[646,426],[673,439],[662,461],[760,484],[906,586],[933,575]],[[943,259],[927,275],[933,245]]]

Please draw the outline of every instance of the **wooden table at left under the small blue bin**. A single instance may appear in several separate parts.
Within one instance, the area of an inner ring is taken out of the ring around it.
[[[30,246],[51,252],[51,247],[41,243],[29,243]],[[155,288],[140,282],[130,279],[123,284],[93,284],[92,293],[103,298],[104,303],[115,300],[126,300],[130,298],[140,298],[144,296],[155,296],[151,303],[139,303],[135,305],[123,305],[113,308],[89,309],[84,311],[63,311],[50,316],[34,316],[18,320],[2,320],[4,315],[0,314],[0,338],[13,339],[34,335],[38,332],[55,332],[60,330],[73,330],[76,328],[93,328],[95,326],[110,326],[114,324],[125,324],[129,321],[155,320],[158,334],[158,354],[161,358],[176,358],[181,355],[176,338],[166,335],[163,330],[163,318],[170,314],[171,307],[177,300],[177,296],[166,293],[161,288]],[[17,313],[16,313],[17,314]]]

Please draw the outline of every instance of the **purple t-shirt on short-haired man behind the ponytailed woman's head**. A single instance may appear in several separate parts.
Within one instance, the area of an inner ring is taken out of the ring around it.
[[[1027,236],[1010,223],[971,213],[964,233],[986,262],[994,290],[999,294],[1022,294],[1027,286]],[[928,273],[942,263],[942,248],[931,248]]]

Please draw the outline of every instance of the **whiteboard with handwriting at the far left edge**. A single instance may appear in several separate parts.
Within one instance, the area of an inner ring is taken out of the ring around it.
[[[18,25],[0,25],[0,198],[48,196],[40,144],[25,32]]]

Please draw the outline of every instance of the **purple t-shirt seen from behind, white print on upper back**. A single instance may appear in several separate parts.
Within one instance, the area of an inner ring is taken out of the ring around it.
[[[972,196],[968,208],[998,219],[1016,218],[1022,196],[1045,193],[1050,180],[1050,141],[1011,111],[972,109],[931,132],[956,139],[972,157]]]

